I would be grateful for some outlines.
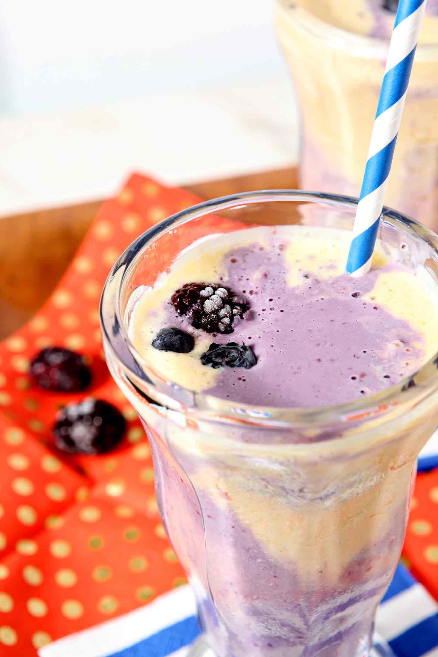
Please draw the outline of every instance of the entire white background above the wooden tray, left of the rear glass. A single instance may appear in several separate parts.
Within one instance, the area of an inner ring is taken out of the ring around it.
[[[297,159],[274,0],[1,0],[0,215]]]

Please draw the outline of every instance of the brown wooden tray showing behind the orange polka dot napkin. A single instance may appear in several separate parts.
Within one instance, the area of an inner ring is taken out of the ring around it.
[[[295,168],[189,185],[208,200],[257,189],[294,189]],[[0,338],[45,302],[72,260],[102,201],[0,219]]]

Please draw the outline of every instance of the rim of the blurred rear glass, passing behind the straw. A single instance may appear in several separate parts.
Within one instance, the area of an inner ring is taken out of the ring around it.
[[[285,6],[285,0],[275,0],[276,6],[285,14],[289,14],[288,7]],[[343,50],[345,47],[353,48],[354,55],[361,57],[367,55],[370,57],[370,51],[374,51],[372,58],[386,58],[389,48],[389,38],[372,37],[367,34],[356,34],[349,32],[344,28],[327,23],[322,18],[318,18],[311,11],[301,5],[294,7],[294,24],[299,24],[308,34],[326,41],[332,47]],[[292,11],[290,12],[292,14]],[[394,14],[395,19],[395,14]],[[416,48],[415,59],[427,60],[429,57],[437,55],[437,43],[419,43]]]

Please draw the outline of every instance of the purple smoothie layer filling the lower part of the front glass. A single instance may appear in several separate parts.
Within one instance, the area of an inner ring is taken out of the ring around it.
[[[171,452],[148,433],[160,472],[156,487],[164,524],[190,580],[198,581],[202,629],[217,654],[356,657],[403,543],[406,500],[393,509],[385,535],[354,555],[336,583],[328,581],[326,569],[337,555],[322,553],[317,583],[309,585],[299,577],[298,564],[265,551],[234,512],[232,496],[224,493],[218,505],[202,487],[195,485],[194,494],[190,478],[196,482],[196,472],[211,468],[211,461],[196,463],[175,447]],[[224,464],[215,466],[223,472]],[[291,491],[280,497],[285,509],[293,505]]]

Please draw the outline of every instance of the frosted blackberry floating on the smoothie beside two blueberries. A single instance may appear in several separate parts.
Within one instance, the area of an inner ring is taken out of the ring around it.
[[[208,333],[232,333],[234,317],[242,318],[249,308],[244,296],[215,283],[187,283],[172,295],[171,304],[192,327]]]

